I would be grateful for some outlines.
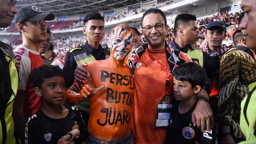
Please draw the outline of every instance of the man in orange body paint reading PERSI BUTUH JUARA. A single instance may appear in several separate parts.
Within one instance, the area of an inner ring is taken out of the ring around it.
[[[84,67],[89,72],[88,79],[75,81],[67,90],[68,104],[77,105],[82,100],[90,99],[87,144],[133,144],[130,123],[134,81],[124,63],[132,45],[130,27],[125,24],[114,27],[111,31],[110,58],[88,63]]]

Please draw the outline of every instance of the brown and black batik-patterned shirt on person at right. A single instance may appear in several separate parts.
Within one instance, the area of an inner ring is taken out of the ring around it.
[[[223,55],[219,70],[219,125],[233,126],[233,135],[243,138],[239,126],[241,101],[247,85],[256,79],[256,60],[237,48]]]

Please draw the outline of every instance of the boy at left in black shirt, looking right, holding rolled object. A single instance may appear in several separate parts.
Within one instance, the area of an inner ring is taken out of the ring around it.
[[[42,108],[28,118],[25,144],[85,143],[87,130],[81,113],[62,105],[66,92],[63,71],[58,66],[43,65],[32,72],[32,82]],[[67,133],[75,129],[80,130],[80,136],[70,140]]]

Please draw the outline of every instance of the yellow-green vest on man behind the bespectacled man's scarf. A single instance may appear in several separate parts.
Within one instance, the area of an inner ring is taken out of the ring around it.
[[[201,67],[203,67],[204,57],[201,49],[188,48],[187,54],[190,56],[193,62],[197,62]]]

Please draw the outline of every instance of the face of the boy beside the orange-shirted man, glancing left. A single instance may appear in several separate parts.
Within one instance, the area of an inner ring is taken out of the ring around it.
[[[178,101],[191,99],[195,96],[194,88],[188,81],[178,81],[174,78],[174,97]]]

